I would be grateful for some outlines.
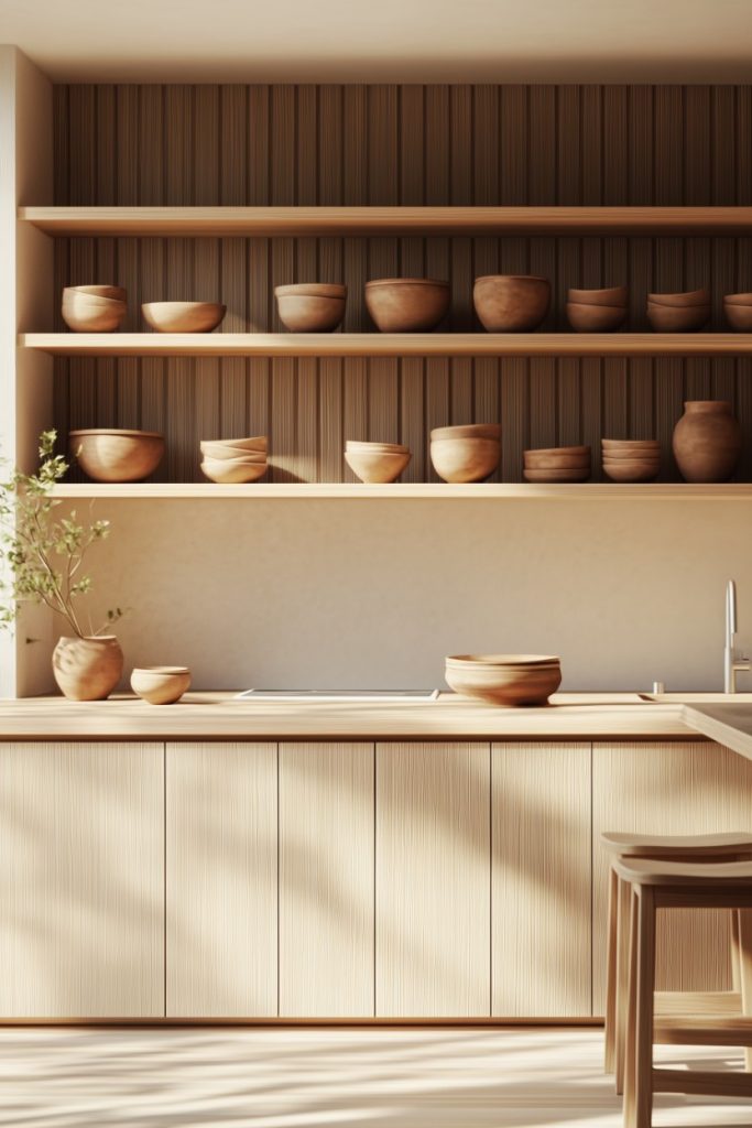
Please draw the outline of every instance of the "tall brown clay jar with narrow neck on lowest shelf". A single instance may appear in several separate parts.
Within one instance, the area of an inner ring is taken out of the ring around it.
[[[742,429],[724,399],[696,399],[673,435],[676,465],[687,482],[727,482],[742,452]]]

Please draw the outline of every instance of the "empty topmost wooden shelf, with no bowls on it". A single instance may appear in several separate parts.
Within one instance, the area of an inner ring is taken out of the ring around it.
[[[59,236],[734,235],[752,208],[19,208]]]

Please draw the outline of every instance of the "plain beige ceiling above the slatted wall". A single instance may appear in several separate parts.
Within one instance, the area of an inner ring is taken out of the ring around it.
[[[57,81],[745,82],[752,0],[0,0]]]

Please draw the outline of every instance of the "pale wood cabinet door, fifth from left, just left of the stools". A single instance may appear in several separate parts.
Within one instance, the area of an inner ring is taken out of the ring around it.
[[[493,1014],[591,1014],[591,747],[492,749]]]

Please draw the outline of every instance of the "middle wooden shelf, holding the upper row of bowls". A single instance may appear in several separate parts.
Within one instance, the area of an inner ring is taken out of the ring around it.
[[[742,356],[750,333],[25,333],[53,356]]]

